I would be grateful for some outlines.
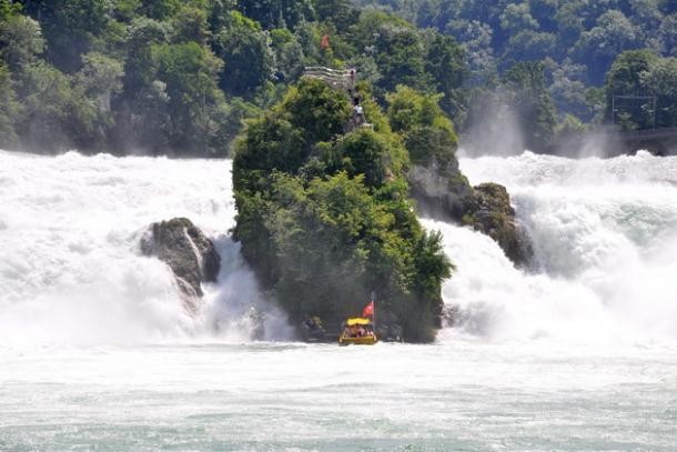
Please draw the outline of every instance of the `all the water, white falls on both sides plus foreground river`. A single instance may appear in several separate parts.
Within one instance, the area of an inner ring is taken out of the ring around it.
[[[426,220],[457,327],[337,348],[284,342],[226,235],[229,161],[0,151],[0,450],[675,450],[677,158],[462,168],[508,188],[535,269]],[[138,250],[179,215],[222,254],[195,319]]]

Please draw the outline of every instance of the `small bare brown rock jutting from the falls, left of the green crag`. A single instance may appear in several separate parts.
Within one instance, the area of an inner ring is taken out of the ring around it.
[[[185,218],[151,224],[141,239],[141,252],[170,267],[180,295],[192,311],[203,295],[201,283],[215,282],[221,264],[212,241]]]

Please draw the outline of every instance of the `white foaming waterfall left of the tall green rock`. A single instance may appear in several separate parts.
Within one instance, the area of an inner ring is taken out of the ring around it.
[[[265,302],[223,235],[235,217],[230,170],[229,160],[0,151],[0,343],[247,339],[247,309]],[[228,285],[205,288],[198,319],[166,267],[139,252],[145,228],[173,217],[190,218],[222,251]],[[283,335],[280,313],[269,314],[269,334]]]

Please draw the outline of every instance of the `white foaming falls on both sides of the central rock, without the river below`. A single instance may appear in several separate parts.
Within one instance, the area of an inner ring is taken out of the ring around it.
[[[677,158],[572,160],[525,152],[462,159],[472,183],[512,193],[535,250],[516,270],[485,235],[426,220],[457,271],[444,285],[458,335],[616,342],[677,338]],[[255,312],[266,339],[290,337],[226,231],[231,162],[55,158],[0,151],[0,342],[242,341]],[[140,255],[153,221],[188,217],[222,255],[195,319],[171,274]]]

